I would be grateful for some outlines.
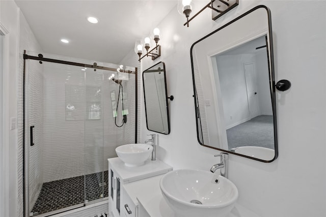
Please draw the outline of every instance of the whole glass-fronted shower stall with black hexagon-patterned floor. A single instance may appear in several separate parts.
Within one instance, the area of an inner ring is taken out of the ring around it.
[[[24,54],[24,213],[108,197],[107,158],[137,143],[137,68]]]

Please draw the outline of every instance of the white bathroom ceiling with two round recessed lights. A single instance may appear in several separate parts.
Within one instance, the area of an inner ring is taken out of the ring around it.
[[[117,63],[177,1],[15,1],[45,53]],[[86,20],[98,18],[97,24]],[[68,39],[68,44],[62,43]],[[135,56],[136,53],[135,53]]]

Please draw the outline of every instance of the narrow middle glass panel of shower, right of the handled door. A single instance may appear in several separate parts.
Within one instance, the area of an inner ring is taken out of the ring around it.
[[[85,70],[85,204],[104,198],[104,70]],[[107,177],[106,177],[107,179]]]

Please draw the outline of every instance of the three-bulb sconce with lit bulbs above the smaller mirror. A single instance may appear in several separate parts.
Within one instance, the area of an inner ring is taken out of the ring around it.
[[[141,62],[141,59],[143,59],[144,57],[151,57],[152,60],[155,60],[156,58],[161,56],[161,46],[158,44],[159,41],[159,29],[155,28],[154,31],[154,38],[153,40],[155,41],[156,46],[154,48],[152,48],[151,50],[149,50],[150,48],[150,38],[146,37],[144,39],[144,48],[146,49],[146,54],[142,57],[143,55],[143,45],[142,43],[137,43],[135,47],[135,52],[138,54],[139,56],[139,62]],[[136,49],[137,48],[137,49]],[[137,50],[137,51],[136,51]]]

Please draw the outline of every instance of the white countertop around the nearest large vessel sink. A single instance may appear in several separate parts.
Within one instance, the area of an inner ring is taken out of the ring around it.
[[[169,207],[162,196],[159,181],[164,175],[158,175],[140,181],[124,185],[125,191],[130,196],[133,203],[140,203],[149,216],[165,217],[174,216],[174,212]],[[231,213],[227,217],[252,216],[258,217],[256,213],[236,203]]]

